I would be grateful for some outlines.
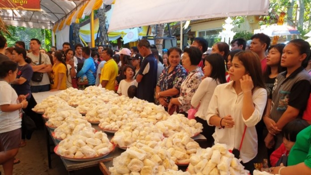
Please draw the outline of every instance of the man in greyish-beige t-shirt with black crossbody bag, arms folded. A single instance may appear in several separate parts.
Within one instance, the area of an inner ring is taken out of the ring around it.
[[[48,73],[52,71],[52,64],[50,58],[47,54],[42,54],[39,52],[41,48],[41,42],[38,39],[30,40],[30,50],[32,52],[28,53],[27,56],[31,58],[31,67],[34,73],[43,73],[41,82],[30,81],[31,92],[45,92],[50,90],[50,79]],[[41,54],[41,63],[40,61]]]

